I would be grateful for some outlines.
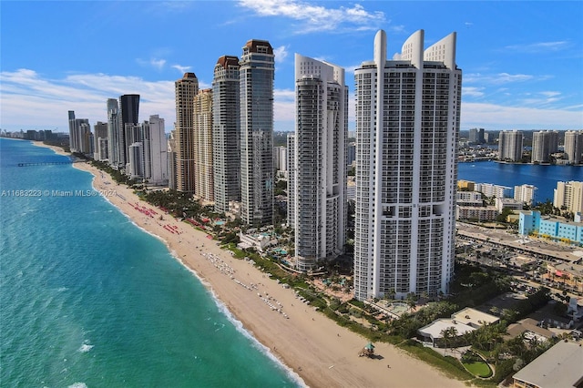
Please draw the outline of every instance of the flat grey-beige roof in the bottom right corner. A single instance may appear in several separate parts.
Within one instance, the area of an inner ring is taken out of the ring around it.
[[[513,376],[528,386],[577,387],[583,382],[583,346],[577,342],[557,342]]]

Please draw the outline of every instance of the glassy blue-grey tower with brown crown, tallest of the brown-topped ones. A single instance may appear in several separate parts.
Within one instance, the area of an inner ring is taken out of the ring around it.
[[[273,222],[273,48],[250,40],[240,58],[240,214],[249,225]]]

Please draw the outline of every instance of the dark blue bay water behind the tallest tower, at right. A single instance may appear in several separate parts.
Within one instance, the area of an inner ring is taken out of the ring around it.
[[[471,180],[476,183],[494,183],[514,189],[520,185],[534,185],[535,202],[553,201],[553,189],[557,182],[569,180],[583,181],[581,166],[542,166],[532,164],[496,163],[483,161],[459,163],[457,179]]]

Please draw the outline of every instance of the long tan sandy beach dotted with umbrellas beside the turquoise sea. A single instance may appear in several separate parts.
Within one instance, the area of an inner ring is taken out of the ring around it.
[[[42,142],[38,146],[49,147]],[[60,148],[49,147],[68,155]],[[295,298],[257,270],[234,259],[217,241],[138,199],[107,173],[85,162],[75,168],[94,177],[93,188],[139,227],[164,240],[169,250],[194,271],[244,328],[298,373],[311,387],[462,387],[434,367],[388,343],[377,342],[377,358],[359,357],[367,340]],[[160,220],[162,216],[163,220]],[[260,296],[261,295],[261,296]],[[278,311],[279,310],[279,311]]]

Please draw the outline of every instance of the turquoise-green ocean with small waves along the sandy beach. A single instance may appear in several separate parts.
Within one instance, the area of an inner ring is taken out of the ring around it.
[[[0,386],[296,387],[162,241],[91,175],[0,138]]]

